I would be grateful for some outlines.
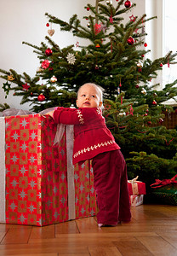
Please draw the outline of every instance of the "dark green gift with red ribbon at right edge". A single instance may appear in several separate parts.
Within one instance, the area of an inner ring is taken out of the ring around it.
[[[151,201],[177,206],[177,174],[171,179],[156,179],[151,188]]]

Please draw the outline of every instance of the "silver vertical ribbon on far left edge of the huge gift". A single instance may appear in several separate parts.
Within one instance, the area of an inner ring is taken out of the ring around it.
[[[0,222],[5,223],[5,118],[0,117]]]

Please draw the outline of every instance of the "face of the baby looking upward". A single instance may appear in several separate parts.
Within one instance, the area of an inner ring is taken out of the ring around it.
[[[78,108],[98,108],[101,107],[99,92],[91,84],[85,84],[78,91],[77,107]]]

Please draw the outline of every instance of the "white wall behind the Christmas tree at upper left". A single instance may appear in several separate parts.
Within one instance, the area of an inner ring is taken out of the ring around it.
[[[145,14],[145,1],[149,0],[132,1],[137,6],[128,16]],[[112,2],[116,3],[116,0]],[[94,5],[95,0],[0,0],[0,68],[7,71],[12,68],[17,73],[26,72],[34,77],[39,60],[33,49],[22,42],[40,46],[45,41],[49,29],[46,26],[47,17],[44,15],[46,12],[60,20],[68,21],[74,14],[83,20],[83,16],[88,15],[84,9],[87,3]],[[87,21],[83,20],[82,24],[86,26]],[[81,43],[81,39],[72,37],[70,32],[60,32],[60,26],[53,25],[52,28],[55,30],[52,39],[61,48],[76,44],[77,40]],[[2,89],[5,82],[0,79],[0,103],[7,102],[11,108],[28,109],[28,104],[20,105],[20,97],[13,96],[13,92],[5,99]]]

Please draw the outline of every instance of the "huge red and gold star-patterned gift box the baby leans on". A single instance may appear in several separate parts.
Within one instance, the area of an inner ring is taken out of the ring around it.
[[[0,222],[43,226],[94,216],[90,162],[72,166],[73,126],[41,114],[0,118]],[[5,150],[4,150],[5,148]]]

